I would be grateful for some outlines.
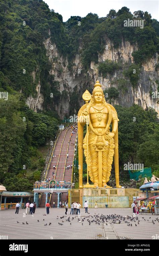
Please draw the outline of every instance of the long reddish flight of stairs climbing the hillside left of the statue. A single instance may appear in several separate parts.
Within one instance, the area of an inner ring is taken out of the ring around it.
[[[64,180],[64,181],[70,181],[71,182],[71,178],[72,178],[71,164],[73,164],[73,159],[74,159],[74,143],[75,143],[75,139],[76,139],[76,132],[74,134],[72,134],[71,140],[69,142],[70,135],[71,135],[70,127],[68,128],[67,132],[66,132],[66,129],[64,129],[61,132],[61,134],[58,138],[58,141],[56,143],[56,147],[55,147],[55,150],[54,150],[54,158],[52,158],[50,168],[49,168],[49,171],[48,171],[48,174],[47,174],[47,178],[53,179],[53,174],[52,173],[53,172],[55,173],[55,171],[56,171],[56,168],[54,170],[53,166],[54,165],[57,166],[58,158],[59,158],[59,155],[60,155],[55,180],[56,181]],[[63,144],[62,144],[62,141],[63,141]],[[69,143],[69,145],[68,145],[68,143]],[[62,144],[62,148],[61,148],[61,144]],[[67,157],[67,160],[66,160],[67,148],[68,148],[68,157]],[[61,149],[61,153],[60,153],[60,149]],[[65,161],[66,161],[66,166],[70,164],[69,169],[65,169]],[[64,169],[65,169],[65,173],[64,173]],[[63,173],[64,173],[64,179],[63,179]],[[58,199],[58,196],[55,193],[53,193],[51,195],[51,200],[50,200],[50,206],[51,207],[53,207],[53,201],[54,200],[55,200],[55,207],[57,207],[57,199]],[[40,207],[45,207],[45,201],[46,201],[46,195],[43,193],[41,201],[40,201]],[[68,192],[62,192],[61,202],[62,201],[68,201]]]

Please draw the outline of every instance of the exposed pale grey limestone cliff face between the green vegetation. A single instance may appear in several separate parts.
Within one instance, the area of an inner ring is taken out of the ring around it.
[[[72,70],[68,69],[67,58],[64,58],[59,54],[56,44],[52,44],[50,38],[45,42],[47,50],[47,56],[52,63],[51,73],[54,74],[55,80],[59,82],[59,91],[64,91],[64,97],[61,97],[61,101],[56,104],[55,108],[61,118],[68,116],[69,107],[71,107],[71,94],[76,88],[76,93],[79,97],[79,105],[84,102],[82,100],[82,94],[86,89],[92,92],[93,85],[98,79],[103,85],[103,89],[109,87],[118,88],[117,79],[124,78],[122,69],[115,71],[113,75],[107,75],[106,78],[99,76],[98,65],[91,62],[90,69],[86,73],[82,68],[81,56],[76,55],[73,61]],[[105,38],[105,50],[102,55],[98,56],[99,62],[105,60],[111,61],[122,61],[124,63],[133,63],[132,53],[138,49],[137,44],[131,45],[128,41],[122,40],[122,43],[118,49],[114,49],[112,42]],[[154,108],[159,113],[159,99],[152,98],[152,92],[157,92],[157,81],[159,81],[158,72],[155,71],[155,65],[158,63],[158,54],[156,53],[152,59],[143,63],[140,73],[140,79],[138,85],[133,88],[127,79],[126,92],[119,91],[119,97],[113,102],[113,104],[120,104],[122,106],[132,106],[134,103],[142,106],[144,109],[148,107]],[[33,99],[29,97],[27,104],[32,107],[35,111],[43,108],[43,96],[40,93],[40,84],[37,86],[38,96]],[[76,111],[72,112],[77,114]]]

